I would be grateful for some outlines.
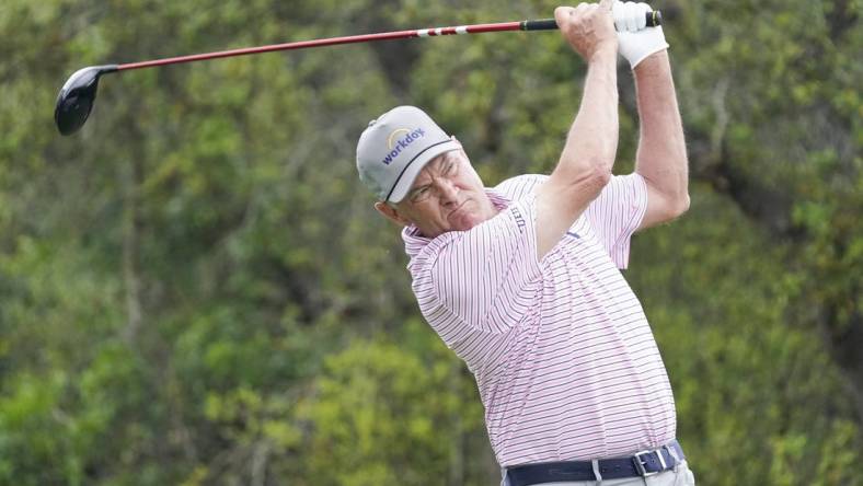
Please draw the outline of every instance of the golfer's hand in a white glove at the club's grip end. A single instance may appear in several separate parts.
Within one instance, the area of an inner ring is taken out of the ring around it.
[[[647,12],[653,12],[647,3],[615,0],[611,5],[618,30],[618,50],[630,61],[632,69],[647,56],[668,48],[661,26],[646,27]]]

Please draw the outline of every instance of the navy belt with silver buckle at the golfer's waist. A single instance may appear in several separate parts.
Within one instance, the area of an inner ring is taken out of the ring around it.
[[[629,458],[598,461],[565,461],[525,464],[506,470],[509,486],[529,486],[569,481],[621,479],[647,477],[675,468],[686,456],[677,440],[652,451]],[[599,474],[597,474],[599,473]],[[601,476],[601,477],[600,477]]]

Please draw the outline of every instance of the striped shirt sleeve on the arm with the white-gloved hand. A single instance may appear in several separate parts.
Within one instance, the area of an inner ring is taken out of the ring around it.
[[[594,234],[618,268],[629,265],[630,241],[646,210],[647,185],[633,172],[612,176],[585,211]]]

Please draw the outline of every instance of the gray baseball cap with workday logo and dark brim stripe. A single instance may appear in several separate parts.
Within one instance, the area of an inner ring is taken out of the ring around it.
[[[369,121],[357,143],[357,171],[379,200],[400,202],[434,158],[461,146],[416,106],[396,106]]]

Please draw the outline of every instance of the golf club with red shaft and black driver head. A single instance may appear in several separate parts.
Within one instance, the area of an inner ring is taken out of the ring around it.
[[[658,10],[646,12],[647,26],[661,24],[663,15]],[[378,34],[363,34],[347,37],[331,37],[315,40],[301,40],[288,44],[274,44],[261,47],[249,47],[242,49],[222,50],[217,53],[195,54],[189,56],[171,57],[141,62],[130,62],[125,65],[104,65],[91,66],[79,69],[60,89],[57,96],[57,106],[54,109],[54,120],[62,135],[72,135],[78,131],[87,121],[93,103],[96,99],[99,78],[117,71],[128,71],[131,69],[153,68],[157,66],[176,65],[181,62],[192,62],[199,60],[217,59],[222,57],[245,56],[250,54],[271,53],[274,50],[304,49],[309,47],[333,46],[337,44],[356,44],[377,40],[392,40],[412,37],[435,37],[440,35],[453,34],[480,34],[484,32],[504,31],[551,31],[556,30],[557,24],[554,19],[527,20],[520,22],[503,22],[494,24],[461,25],[453,27],[419,28],[413,31],[383,32]]]

